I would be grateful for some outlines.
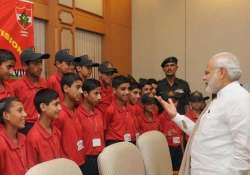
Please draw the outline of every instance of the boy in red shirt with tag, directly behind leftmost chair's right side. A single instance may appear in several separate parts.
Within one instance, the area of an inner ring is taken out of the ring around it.
[[[64,101],[62,110],[55,119],[55,126],[62,133],[62,149],[66,158],[75,161],[81,169],[85,163],[84,133],[76,109],[82,97],[82,80],[75,73],[66,73],[61,80]]]

